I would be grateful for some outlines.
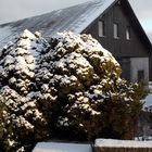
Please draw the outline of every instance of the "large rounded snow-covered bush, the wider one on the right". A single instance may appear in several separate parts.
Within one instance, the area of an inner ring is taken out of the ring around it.
[[[56,90],[58,132],[89,140],[132,138],[142,97],[138,98],[137,84],[127,85],[121,78],[121,66],[112,54],[91,36],[66,31],[50,46],[45,62],[53,75],[47,84]]]

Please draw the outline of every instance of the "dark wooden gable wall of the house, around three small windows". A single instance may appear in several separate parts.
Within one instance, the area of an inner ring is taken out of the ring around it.
[[[126,59],[130,58],[149,58],[149,50],[144,45],[142,38],[139,37],[136,27],[132,26],[127,13],[123,10],[119,3],[111,7],[101,16],[99,16],[90,26],[88,26],[83,33],[91,34],[105,49],[107,49],[122,65],[123,76],[127,80],[132,80],[130,63],[126,62]],[[104,21],[105,24],[105,36],[99,37],[98,22]],[[118,24],[118,36],[119,38],[113,37],[113,23]],[[126,28],[130,26],[130,39],[126,39]],[[122,62],[123,61],[123,62]],[[152,62],[152,60],[151,60]],[[148,66],[149,67],[149,66]],[[147,73],[148,74],[148,73]],[[147,76],[149,77],[149,76]]]

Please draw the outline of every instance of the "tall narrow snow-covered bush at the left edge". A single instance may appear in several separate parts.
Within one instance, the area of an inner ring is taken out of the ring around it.
[[[2,140],[5,151],[23,150],[24,144],[48,136],[35,86],[37,60],[48,46],[37,33],[25,30],[1,51],[0,102],[4,104]]]

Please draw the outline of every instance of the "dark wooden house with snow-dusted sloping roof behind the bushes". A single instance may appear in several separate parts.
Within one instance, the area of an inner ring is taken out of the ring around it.
[[[128,0],[92,0],[0,25],[0,47],[25,28],[46,39],[63,30],[91,34],[116,58],[128,81],[152,80],[152,46]]]

